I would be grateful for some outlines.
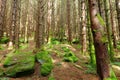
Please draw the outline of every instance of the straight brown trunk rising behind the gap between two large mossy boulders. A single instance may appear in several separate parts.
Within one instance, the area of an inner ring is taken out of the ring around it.
[[[45,29],[45,0],[38,0],[38,21],[36,26],[36,48],[39,49],[44,44],[44,29]]]

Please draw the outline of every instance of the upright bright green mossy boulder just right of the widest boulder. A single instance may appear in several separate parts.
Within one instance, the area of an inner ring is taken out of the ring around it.
[[[40,73],[43,76],[47,76],[53,69],[52,58],[48,51],[40,51],[36,54],[37,61],[41,64]]]

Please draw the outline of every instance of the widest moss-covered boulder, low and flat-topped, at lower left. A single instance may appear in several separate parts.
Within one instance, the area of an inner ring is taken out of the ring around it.
[[[35,56],[28,53],[12,54],[7,56],[3,62],[5,75],[16,77],[18,73],[24,73],[34,69]]]

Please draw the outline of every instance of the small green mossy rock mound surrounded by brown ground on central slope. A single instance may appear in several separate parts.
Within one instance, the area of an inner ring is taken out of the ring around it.
[[[62,49],[65,52],[63,61],[66,61],[66,62],[77,62],[78,61],[78,58],[74,55],[73,52],[70,51],[68,47],[62,47]]]

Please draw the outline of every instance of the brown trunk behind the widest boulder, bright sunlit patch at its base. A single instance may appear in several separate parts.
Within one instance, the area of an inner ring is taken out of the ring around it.
[[[21,0],[12,1],[12,21],[10,30],[9,47],[12,48],[13,44],[16,49],[19,48],[19,27],[20,27],[20,5]]]

